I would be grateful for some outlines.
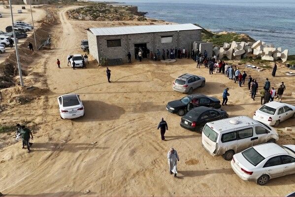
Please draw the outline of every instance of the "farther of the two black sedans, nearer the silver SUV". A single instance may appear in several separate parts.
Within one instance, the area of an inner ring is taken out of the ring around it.
[[[166,110],[179,116],[184,116],[188,109],[188,104],[193,102],[194,107],[205,106],[211,108],[221,108],[220,100],[215,97],[206,96],[203,94],[192,94],[183,97],[180,100],[170,101],[166,105]]]

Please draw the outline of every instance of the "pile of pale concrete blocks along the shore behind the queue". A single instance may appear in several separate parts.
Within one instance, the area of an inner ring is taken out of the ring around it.
[[[286,62],[289,50],[282,51],[281,47],[275,48],[273,44],[266,44],[261,40],[257,42],[225,42],[223,47],[215,46],[213,53],[219,57],[227,57],[228,59],[241,59],[244,57],[261,57],[262,60],[275,61],[281,59]]]

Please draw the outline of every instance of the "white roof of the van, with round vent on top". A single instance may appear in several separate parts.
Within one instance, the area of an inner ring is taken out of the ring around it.
[[[207,125],[211,127],[215,132],[221,133],[223,131],[228,131],[230,129],[245,127],[249,125],[261,125],[261,123],[252,118],[240,116],[208,122]]]

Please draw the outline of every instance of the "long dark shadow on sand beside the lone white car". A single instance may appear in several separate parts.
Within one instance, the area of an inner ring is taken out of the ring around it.
[[[83,101],[85,115],[82,118],[73,119],[75,122],[90,122],[97,120],[119,119],[125,114],[125,110],[116,105],[110,105],[102,101]]]

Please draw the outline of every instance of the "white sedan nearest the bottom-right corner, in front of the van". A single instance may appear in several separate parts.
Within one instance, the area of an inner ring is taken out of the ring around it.
[[[295,174],[295,145],[257,145],[235,154],[230,164],[244,181],[264,185],[269,179]]]

